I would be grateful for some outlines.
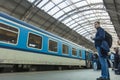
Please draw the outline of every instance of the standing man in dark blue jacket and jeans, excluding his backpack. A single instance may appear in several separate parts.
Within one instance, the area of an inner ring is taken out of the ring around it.
[[[110,80],[108,63],[107,63],[107,54],[109,52],[109,45],[105,41],[105,31],[100,27],[100,22],[96,21],[94,23],[95,28],[97,29],[95,38],[92,38],[95,42],[95,48],[98,52],[99,61],[101,64],[101,76],[97,80]]]

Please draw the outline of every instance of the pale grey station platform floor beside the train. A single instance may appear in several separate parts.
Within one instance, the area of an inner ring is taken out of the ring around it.
[[[63,70],[40,71],[21,73],[1,73],[0,80],[96,80],[100,76],[100,70]],[[110,80],[120,80],[120,75],[115,75],[110,69]]]

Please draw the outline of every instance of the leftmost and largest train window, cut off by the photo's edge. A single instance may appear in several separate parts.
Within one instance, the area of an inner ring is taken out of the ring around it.
[[[0,41],[16,44],[18,38],[18,29],[0,23]]]

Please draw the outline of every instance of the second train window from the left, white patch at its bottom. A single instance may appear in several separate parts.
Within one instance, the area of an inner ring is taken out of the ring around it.
[[[42,48],[42,37],[29,33],[28,46],[32,48]]]

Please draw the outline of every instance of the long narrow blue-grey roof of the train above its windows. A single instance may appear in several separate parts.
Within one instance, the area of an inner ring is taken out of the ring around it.
[[[4,13],[4,12],[0,12],[0,16],[2,16],[2,17],[4,17],[4,18],[7,18],[7,19],[9,19],[9,20],[12,20],[12,21],[14,21],[14,22],[17,22],[17,23],[19,23],[19,24],[21,24],[21,25],[24,25],[24,26],[26,26],[26,27],[29,27],[29,28],[31,28],[31,29],[34,29],[34,30],[43,32],[43,33],[45,33],[45,34],[47,34],[47,35],[53,36],[53,37],[55,37],[55,38],[58,38],[58,39],[61,39],[61,40],[65,40],[65,41],[67,41],[67,42],[69,42],[69,43],[72,43],[72,44],[74,44],[74,45],[76,45],[76,46],[80,46],[80,45],[78,45],[78,44],[76,44],[76,43],[74,43],[74,42],[71,42],[71,41],[69,41],[69,40],[67,40],[67,39],[64,39],[64,38],[62,38],[62,37],[59,37],[59,36],[57,36],[57,35],[55,35],[55,34],[53,34],[53,33],[50,33],[50,32],[48,32],[48,31],[45,31],[45,30],[41,29],[41,28],[38,28],[38,27],[36,27],[36,26],[34,26],[34,25],[32,25],[32,24],[28,24],[28,23],[26,23],[26,22],[24,22],[24,21],[21,21],[21,20],[19,20],[19,19],[17,19],[17,18],[14,18],[14,17],[12,17],[12,16],[10,16],[10,15]],[[82,46],[80,46],[80,48],[85,49],[85,48],[82,47]]]

